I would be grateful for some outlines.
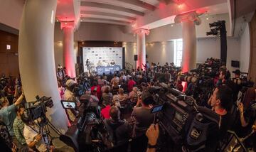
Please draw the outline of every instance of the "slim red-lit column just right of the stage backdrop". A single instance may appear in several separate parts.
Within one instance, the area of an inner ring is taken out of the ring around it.
[[[137,33],[137,67],[143,68],[143,65],[146,64],[146,35],[149,35],[149,30],[147,29],[138,29]],[[142,65],[143,64],[143,65]],[[136,69],[137,69],[136,67]]]

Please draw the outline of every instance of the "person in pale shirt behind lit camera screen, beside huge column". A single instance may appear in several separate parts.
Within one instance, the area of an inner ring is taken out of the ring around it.
[[[68,101],[73,101],[76,103],[76,105],[79,107],[80,105],[80,101],[77,97],[75,97],[75,86],[76,86],[76,82],[74,80],[68,80],[65,83],[66,89],[65,89],[65,93],[64,93],[64,99],[68,100]],[[66,109],[66,112],[68,114],[68,119],[70,119],[70,121],[75,121],[76,116],[78,115],[78,111],[74,110],[74,109]]]

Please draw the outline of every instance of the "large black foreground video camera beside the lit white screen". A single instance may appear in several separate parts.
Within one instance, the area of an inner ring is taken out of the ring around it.
[[[101,120],[100,106],[90,102],[89,94],[80,99],[80,102],[80,117],[75,119],[64,135],[60,135],[60,140],[73,147],[75,151],[95,151],[105,148],[102,137],[105,128]]]

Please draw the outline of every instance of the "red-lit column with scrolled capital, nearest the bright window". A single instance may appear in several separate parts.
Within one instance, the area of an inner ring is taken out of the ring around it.
[[[196,68],[196,25],[201,23],[195,11],[177,15],[175,23],[182,25],[183,53],[182,53],[182,72]]]

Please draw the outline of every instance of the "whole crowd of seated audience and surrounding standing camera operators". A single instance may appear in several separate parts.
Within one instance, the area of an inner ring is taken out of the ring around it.
[[[155,101],[148,90],[159,85],[159,82],[166,82],[182,91],[178,72],[180,70],[173,63],[166,63],[164,66],[159,63],[146,63],[142,68],[121,70],[110,75],[84,73],[82,77],[86,77],[87,86],[90,87],[83,88],[80,95],[76,93],[77,88],[84,83],[65,75],[65,68],[60,65],[57,78],[62,99],[73,101],[80,107],[80,98],[90,97],[90,102],[100,105],[102,119],[114,146],[133,138],[138,141],[137,145],[132,146],[137,148],[134,151],[156,151],[159,125],[154,124],[156,118],[151,114],[151,108]],[[239,73],[235,74],[238,78]],[[38,133],[37,126],[26,116],[26,99],[21,80],[6,79],[3,75],[1,80],[4,79],[6,84],[2,84],[0,102],[1,146],[9,147],[11,151],[46,151],[46,144],[43,144],[43,137]],[[245,146],[255,150],[253,131],[256,119],[256,91],[253,87],[248,88],[243,99],[237,102],[240,87],[234,86],[230,72],[225,67],[220,68],[215,89],[208,99],[208,107],[220,116],[221,139],[225,139],[227,131],[231,129],[240,138],[247,136]],[[76,109],[65,109],[65,112],[71,124],[79,116]],[[53,150],[53,147],[48,147],[49,149]]]

